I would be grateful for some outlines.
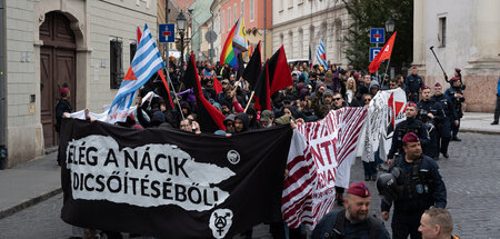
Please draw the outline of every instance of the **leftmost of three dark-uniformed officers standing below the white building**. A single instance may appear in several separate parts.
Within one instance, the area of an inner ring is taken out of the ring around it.
[[[422,88],[422,100],[417,104],[418,118],[426,123],[429,133],[429,143],[423,148],[423,155],[439,159],[438,130],[437,126],[444,121],[444,111],[439,102],[431,99],[431,91],[428,86]]]

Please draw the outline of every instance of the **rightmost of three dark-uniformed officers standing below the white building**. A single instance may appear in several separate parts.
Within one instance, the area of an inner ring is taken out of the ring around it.
[[[444,94],[451,99],[451,102],[453,102],[454,110],[457,112],[457,119],[458,119],[457,125],[454,125],[454,123],[451,125],[451,131],[452,131],[451,140],[461,141],[461,139],[459,139],[457,137],[457,135],[458,135],[458,131],[460,128],[460,119],[463,117],[462,103],[466,101],[466,98],[463,97],[462,82],[460,80],[460,77],[451,78],[450,83],[451,83],[451,87],[447,91],[444,91]]]

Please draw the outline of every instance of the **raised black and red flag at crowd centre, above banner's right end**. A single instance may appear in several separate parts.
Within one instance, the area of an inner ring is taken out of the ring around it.
[[[256,106],[258,110],[271,110],[271,96],[281,89],[293,86],[283,46],[266,62],[257,80]]]

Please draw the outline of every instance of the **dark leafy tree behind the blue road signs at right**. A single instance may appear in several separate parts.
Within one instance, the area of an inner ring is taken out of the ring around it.
[[[350,64],[368,71],[370,28],[384,28],[386,21],[392,18],[396,22],[394,49],[391,56],[391,67],[401,72],[403,67],[411,64],[413,59],[413,0],[342,0],[352,19],[344,41],[344,50]],[[390,36],[386,36],[389,39]],[[383,46],[383,44],[382,44]],[[379,47],[382,47],[379,46]],[[387,62],[380,67],[384,71]]]

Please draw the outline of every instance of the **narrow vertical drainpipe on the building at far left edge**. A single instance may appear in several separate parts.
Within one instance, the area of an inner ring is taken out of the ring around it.
[[[6,83],[6,14],[4,0],[0,0],[0,169],[7,165],[7,83]]]

